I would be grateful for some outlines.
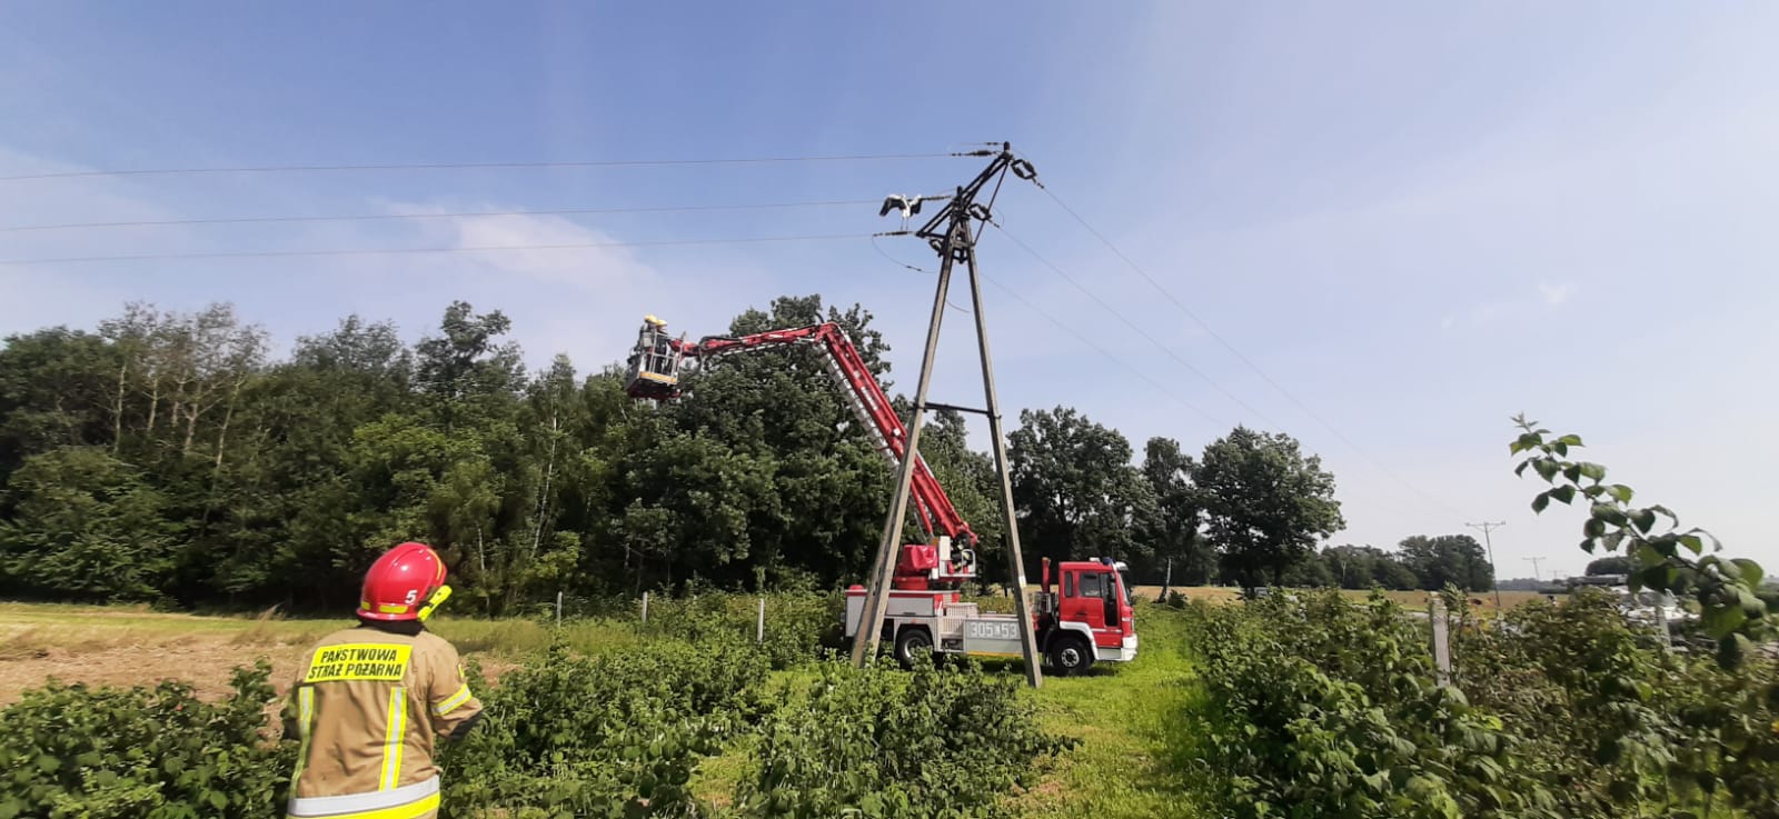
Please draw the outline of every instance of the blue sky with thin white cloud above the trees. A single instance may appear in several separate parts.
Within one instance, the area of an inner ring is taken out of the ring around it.
[[[1503,576],[1528,576],[1530,556],[1548,558],[1544,576],[1578,572],[1580,515],[1533,517],[1535,487],[1510,474],[1507,419],[1525,410],[1779,567],[1765,521],[1775,30],[1765,4],[14,4],[0,11],[0,176],[1012,140],[1217,336],[1009,183],[1007,233],[1131,322],[989,231],[989,277],[1117,357],[989,288],[1009,414],[1073,405],[1139,451],[1149,435],[1197,449],[1235,423],[1283,428],[1336,473],[1348,529],[1334,542],[1507,521]],[[0,181],[0,227],[868,201],[948,190],[978,162]],[[0,259],[893,227],[872,206],[829,206],[0,231]],[[881,250],[932,266],[911,240]],[[509,313],[534,364],[566,352],[596,368],[644,313],[696,336],[774,295],[822,293],[879,316],[911,387],[930,277],[882,252],[836,240],[0,265],[0,332],[91,327],[144,298],[231,300],[285,345],[347,313],[418,338],[466,298]],[[936,400],[980,400],[968,322],[946,316]]]

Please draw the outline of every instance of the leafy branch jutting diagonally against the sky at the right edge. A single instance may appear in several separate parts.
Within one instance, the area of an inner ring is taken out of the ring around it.
[[[1542,513],[1551,501],[1566,506],[1587,503],[1582,549],[1589,554],[1622,549],[1633,561],[1628,577],[1631,592],[1651,588],[1699,600],[1701,618],[1717,640],[1717,661],[1724,668],[1740,666],[1758,640],[1772,638],[1779,611],[1754,593],[1761,584],[1759,563],[1717,556],[1724,545],[1711,533],[1681,529],[1679,517],[1667,506],[1633,505],[1637,492],[1624,483],[1608,483],[1606,467],[1569,460],[1569,449],[1582,448],[1580,435],[1553,435],[1523,414],[1514,417],[1514,425],[1521,433],[1509,451],[1525,453],[1514,474],[1525,476],[1530,467],[1551,485],[1532,499],[1532,512]],[[1708,542],[1711,554],[1706,554]]]

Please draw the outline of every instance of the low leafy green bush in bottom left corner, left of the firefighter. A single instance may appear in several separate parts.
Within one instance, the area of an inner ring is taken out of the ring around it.
[[[27,691],[0,711],[0,817],[279,815],[295,744],[267,736],[270,672],[237,668],[219,705],[171,680]]]

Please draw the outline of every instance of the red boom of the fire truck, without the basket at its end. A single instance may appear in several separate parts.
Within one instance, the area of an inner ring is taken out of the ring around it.
[[[706,338],[696,345],[685,341],[671,341],[671,345],[681,355],[696,359],[712,359],[760,346],[811,345],[824,352],[829,375],[847,387],[843,394],[852,405],[852,412],[857,414],[859,423],[872,433],[877,451],[884,453],[890,464],[897,467],[907,457],[907,426],[897,417],[895,409],[890,405],[890,396],[884,394],[884,387],[877,384],[872,370],[865,366],[857,346],[833,322],[740,338]],[[945,535],[961,547],[973,549],[977,545],[977,535],[957,515],[957,508],[952,506],[952,499],[939,487],[939,480],[932,476],[932,469],[927,469],[927,462],[920,453],[914,453],[911,496],[914,513],[929,540],[934,535]]]

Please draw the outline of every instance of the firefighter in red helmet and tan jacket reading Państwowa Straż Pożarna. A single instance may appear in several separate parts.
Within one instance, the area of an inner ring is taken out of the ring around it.
[[[365,572],[359,625],[317,643],[290,689],[285,736],[301,746],[288,817],[438,815],[432,750],[482,716],[457,648],[425,631],[447,597],[445,561],[423,544],[397,545]]]

